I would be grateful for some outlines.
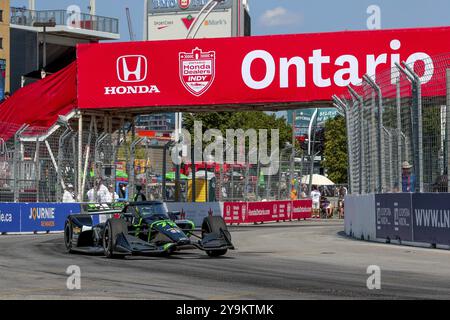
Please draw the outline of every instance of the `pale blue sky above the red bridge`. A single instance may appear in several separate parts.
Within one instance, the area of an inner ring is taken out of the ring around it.
[[[36,0],[37,9],[66,9],[79,5],[88,12],[88,0]],[[450,25],[450,0],[249,0],[254,35],[366,29],[370,5],[381,9],[387,28]],[[28,0],[11,0],[26,6]],[[97,14],[120,19],[123,41],[129,40],[125,8],[129,7],[137,39],[142,39],[143,0],[97,0]]]

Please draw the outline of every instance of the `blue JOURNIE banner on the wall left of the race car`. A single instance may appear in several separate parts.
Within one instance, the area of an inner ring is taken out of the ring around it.
[[[21,203],[21,232],[62,231],[67,216],[81,212],[78,203]]]

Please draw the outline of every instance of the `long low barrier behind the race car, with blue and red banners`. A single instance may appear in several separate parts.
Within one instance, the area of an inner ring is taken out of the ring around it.
[[[112,207],[117,205],[120,203]],[[67,216],[102,210],[99,206],[85,203],[0,203],[0,234],[62,232]],[[312,201],[168,202],[167,209],[180,211],[182,219],[189,219],[200,227],[209,215],[223,216],[229,225],[308,219],[312,215]],[[100,221],[99,216],[93,218],[94,223]]]

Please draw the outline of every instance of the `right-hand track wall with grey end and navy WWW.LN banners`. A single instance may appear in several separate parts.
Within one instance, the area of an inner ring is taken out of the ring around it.
[[[450,194],[347,196],[345,232],[362,240],[450,249]]]

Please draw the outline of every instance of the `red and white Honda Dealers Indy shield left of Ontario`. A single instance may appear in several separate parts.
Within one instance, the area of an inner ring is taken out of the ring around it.
[[[214,82],[216,52],[203,52],[195,48],[192,52],[180,52],[180,80],[187,91],[201,96]]]

